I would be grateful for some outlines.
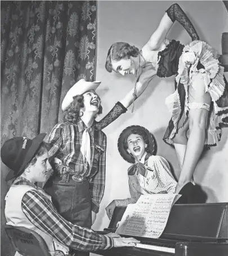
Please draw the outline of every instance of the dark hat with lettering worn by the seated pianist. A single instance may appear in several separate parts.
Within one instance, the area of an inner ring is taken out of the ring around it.
[[[1,159],[7,167],[11,168],[11,171],[6,176],[6,181],[19,176],[24,171],[45,136],[46,133],[41,133],[33,140],[27,137],[14,137],[4,142],[1,148]]]

